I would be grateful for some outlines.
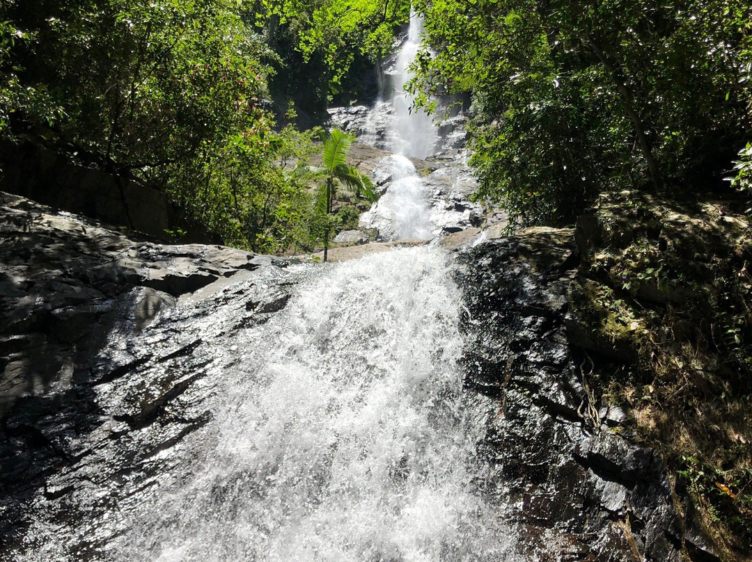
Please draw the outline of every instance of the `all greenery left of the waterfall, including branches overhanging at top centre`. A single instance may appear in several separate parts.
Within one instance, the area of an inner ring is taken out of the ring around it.
[[[326,180],[303,165],[321,150],[314,125],[353,60],[389,50],[406,10],[342,0],[7,0],[0,140],[41,143],[157,186],[227,244],[321,247],[327,230],[312,188]]]

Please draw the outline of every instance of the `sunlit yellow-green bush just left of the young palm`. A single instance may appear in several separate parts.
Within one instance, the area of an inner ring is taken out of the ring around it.
[[[256,252],[280,253],[311,239],[314,174],[305,163],[316,151],[311,132],[288,125],[279,133],[251,129],[230,137],[202,170],[171,178],[173,197],[225,243]]]

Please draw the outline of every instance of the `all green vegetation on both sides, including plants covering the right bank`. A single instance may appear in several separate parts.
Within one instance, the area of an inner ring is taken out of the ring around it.
[[[636,337],[645,358],[613,400],[641,400],[644,411],[669,415],[666,427],[698,403],[735,408],[734,422],[748,424],[750,2],[414,0],[412,8],[426,19],[409,86],[416,104],[437,119],[441,96],[463,104],[477,197],[504,207],[513,225],[572,225],[604,192],[640,194],[625,195],[635,216],[671,214],[650,201],[741,194],[735,213],[746,222],[729,224],[747,226],[733,255],[712,256],[717,267],[695,285],[687,279],[699,261],[679,270],[658,234],[611,244],[586,265],[594,279],[608,278],[588,306],[612,336]],[[332,156],[323,174],[306,165],[322,150],[317,126],[327,105],[363,97],[365,69],[393,49],[410,11],[408,0],[4,0],[0,141],[44,144],[157,186],[234,246],[326,247],[353,217],[329,213],[341,159]],[[691,307],[639,300],[648,286],[681,284]],[[678,344],[680,333],[712,373],[696,369],[690,381],[654,337],[674,334]],[[720,386],[711,380],[719,376]],[[654,443],[650,431],[643,436]],[[705,441],[667,443],[666,459],[738,552],[752,544],[752,446]]]

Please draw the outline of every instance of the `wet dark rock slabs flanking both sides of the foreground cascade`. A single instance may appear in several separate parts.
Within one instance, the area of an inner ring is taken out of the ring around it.
[[[221,373],[242,354],[226,350],[316,266],[138,242],[11,195],[0,222],[0,554],[123,559],[129,514],[218,438]],[[567,324],[580,237],[529,229],[456,253],[464,392],[486,403],[486,469],[466,484],[501,502],[508,560],[716,560],[629,408],[588,384]]]

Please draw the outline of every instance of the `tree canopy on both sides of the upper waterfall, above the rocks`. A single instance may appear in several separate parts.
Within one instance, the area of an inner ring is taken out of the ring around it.
[[[472,98],[478,198],[515,222],[572,222],[604,189],[706,185],[752,141],[743,0],[413,4],[426,17],[417,104]],[[155,183],[229,240],[268,249],[287,237],[268,222],[273,201],[302,189],[278,163],[316,136],[275,120],[292,107],[316,125],[332,96],[362,95],[363,69],[409,12],[406,0],[9,0],[0,135]]]

